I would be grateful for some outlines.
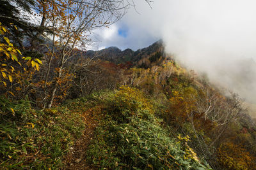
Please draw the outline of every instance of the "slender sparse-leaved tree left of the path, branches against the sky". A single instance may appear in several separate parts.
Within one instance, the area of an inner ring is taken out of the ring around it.
[[[145,0],[148,4],[152,1]],[[58,74],[52,78],[51,92],[47,92],[47,108],[51,108],[58,80],[68,61],[76,56],[76,51],[86,50],[86,44],[92,39],[90,34],[99,27],[108,27],[122,18],[127,9],[134,6],[130,0],[40,0],[37,10],[42,14],[41,27],[51,31],[46,34],[51,38],[51,45],[45,44],[49,50],[47,66],[44,74],[44,86],[49,81],[52,67],[58,67]],[[44,33],[44,32],[40,32]],[[57,65],[52,66],[52,59]]]

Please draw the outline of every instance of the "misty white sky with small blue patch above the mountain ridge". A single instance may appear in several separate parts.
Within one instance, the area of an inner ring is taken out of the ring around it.
[[[181,64],[256,103],[256,1],[155,0],[152,9],[134,3],[136,10],[97,31],[98,49],[137,50],[163,39]]]

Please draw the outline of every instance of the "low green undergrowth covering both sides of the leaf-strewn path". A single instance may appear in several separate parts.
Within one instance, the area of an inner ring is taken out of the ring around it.
[[[81,113],[97,107],[103,118],[99,118],[99,127],[87,151],[92,166],[211,169],[188,146],[188,136],[170,135],[163,120],[154,115],[159,108],[137,89],[122,87],[116,92],[95,93],[44,111],[32,109],[26,100],[1,100],[1,111],[5,113],[0,124],[1,169],[62,167],[63,156],[83,132]]]

